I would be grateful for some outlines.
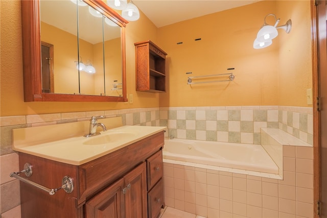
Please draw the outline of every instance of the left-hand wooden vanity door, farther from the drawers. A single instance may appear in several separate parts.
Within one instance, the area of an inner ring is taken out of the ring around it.
[[[115,182],[85,203],[86,218],[124,217],[124,179]]]

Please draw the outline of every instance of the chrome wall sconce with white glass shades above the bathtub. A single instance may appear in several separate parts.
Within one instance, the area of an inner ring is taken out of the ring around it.
[[[268,25],[266,23],[267,16],[274,16],[275,17],[275,24],[274,26]],[[256,35],[256,39],[253,42],[254,49],[263,49],[272,44],[272,39],[276,38],[278,35],[277,29],[283,29],[286,33],[290,33],[292,29],[292,21],[291,19],[287,20],[285,25],[277,27],[280,18],[276,18],[274,14],[268,14],[265,16],[265,23],[259,30],[258,34]]]

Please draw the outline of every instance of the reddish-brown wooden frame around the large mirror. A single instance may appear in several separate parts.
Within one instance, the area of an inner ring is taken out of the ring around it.
[[[41,34],[40,34],[40,3],[39,0],[21,0],[22,26],[22,56],[24,75],[24,101],[127,101],[126,95],[126,55],[125,55],[125,27],[128,21],[108,7],[101,0],[84,0],[102,14],[110,17],[121,27],[122,46],[122,89],[123,96],[97,96],[42,93],[41,78]]]

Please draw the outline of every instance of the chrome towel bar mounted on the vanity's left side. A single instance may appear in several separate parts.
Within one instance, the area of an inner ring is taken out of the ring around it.
[[[60,189],[63,189],[67,193],[72,193],[73,190],[74,190],[73,179],[70,178],[69,176],[64,176],[62,178],[62,181],[61,181],[62,185],[60,187],[50,189],[50,188],[47,188],[47,187],[45,187],[43,185],[40,185],[40,184],[38,184],[36,182],[30,181],[28,179],[25,179],[24,177],[19,176],[19,173],[22,173],[22,172],[24,172],[27,177],[31,177],[32,174],[33,174],[32,165],[29,164],[29,163],[24,164],[24,169],[23,170],[21,170],[20,172],[10,173],[10,177],[14,177],[14,178],[16,178],[16,179],[18,179],[18,180],[20,180],[22,182],[25,182],[25,183],[33,186],[33,187],[39,188],[39,189],[41,189],[43,191],[46,191],[50,195],[54,195]]]

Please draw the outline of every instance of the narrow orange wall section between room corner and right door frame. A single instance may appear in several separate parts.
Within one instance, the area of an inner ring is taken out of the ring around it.
[[[277,7],[281,23],[292,20],[291,33],[278,35],[278,105],[311,107],[306,98],[312,88],[310,1],[278,1]]]

